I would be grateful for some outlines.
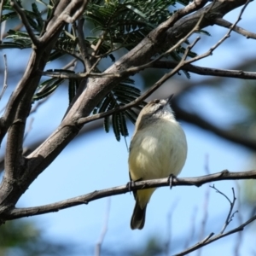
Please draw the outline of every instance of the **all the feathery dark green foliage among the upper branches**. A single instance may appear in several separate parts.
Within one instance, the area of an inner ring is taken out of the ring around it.
[[[31,26],[32,31],[36,37],[44,35],[45,27],[47,26],[48,19],[52,15],[52,11],[55,8],[55,1],[49,1],[49,3],[38,1],[32,3],[31,9],[25,9],[23,1],[17,1],[20,8],[26,15],[26,20]],[[139,42],[145,38],[149,32],[169,17],[175,11],[175,4],[181,3],[186,5],[188,0],[176,1],[176,0],[91,0],[86,10],[84,11],[84,19],[87,20],[87,25],[90,26],[90,32],[86,32],[84,37],[84,45],[87,47],[89,54],[93,51],[94,56],[90,57],[90,61],[96,62],[96,60],[103,57],[110,58],[111,61],[115,61],[115,52],[119,49],[130,50],[134,48]],[[19,16],[15,12],[13,6],[9,1],[5,1],[3,4],[3,13],[1,16],[1,22],[12,21],[17,22]],[[19,21],[20,22],[20,21]],[[78,62],[84,65],[84,58],[80,51],[80,42],[78,39],[78,24],[67,24],[63,27],[63,30],[57,39],[55,48],[52,50],[49,56],[49,62],[58,61],[61,57],[73,57]],[[13,26],[14,27],[14,26]],[[206,32],[204,32],[206,33]],[[189,44],[186,42],[185,44]],[[172,45],[169,45],[172,47]],[[32,40],[25,29],[9,29],[8,35],[3,38],[3,42],[0,44],[0,49],[6,48],[32,48]],[[161,53],[166,49],[161,49]],[[184,52],[184,47],[180,46],[171,54],[166,55],[166,58],[172,57],[174,60],[181,60]],[[190,56],[195,56],[195,53],[190,52]],[[99,61],[100,62],[100,61]],[[57,62],[56,62],[57,63]],[[85,66],[84,66],[85,70]],[[69,73],[66,69],[55,70],[55,73]],[[78,70],[71,73],[79,72]],[[96,65],[94,72],[101,73],[102,71]],[[185,73],[189,78],[189,73]],[[36,90],[33,96],[32,102],[43,99],[53,93],[56,88],[65,80],[68,80],[68,97],[69,102],[73,100],[76,91],[79,87],[79,79],[59,79],[51,78],[46,79],[41,84],[38,84],[38,90]],[[126,80],[120,84],[117,84],[115,89],[111,91],[102,102],[99,102],[98,107],[93,113],[102,113],[119,106],[134,101],[140,96],[140,90],[131,85],[131,80]],[[143,108],[144,103],[141,103],[136,108],[140,110]],[[126,128],[125,119],[130,119],[131,122],[135,122],[137,119],[137,112],[132,109],[127,109],[123,113],[114,113],[111,118],[104,120],[105,130],[109,131],[110,121],[113,124],[113,131],[117,140],[120,136],[126,137],[128,131]]]

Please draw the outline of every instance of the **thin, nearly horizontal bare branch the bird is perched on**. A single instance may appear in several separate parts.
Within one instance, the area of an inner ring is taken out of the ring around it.
[[[248,172],[229,172],[224,170],[223,172],[217,172],[201,177],[178,177],[173,178],[172,187],[175,186],[196,186],[200,187],[205,183],[212,183],[216,181],[224,180],[241,180],[241,179],[255,179],[256,171]],[[53,204],[41,206],[41,207],[28,207],[28,208],[13,208],[8,212],[4,212],[1,216],[4,220],[10,220],[15,218],[29,217],[49,212],[58,212],[60,210],[75,207],[83,204],[88,204],[90,201],[96,201],[97,199],[108,197],[111,195],[121,195],[127,192],[131,192],[137,189],[149,189],[158,187],[170,186],[169,177],[146,180],[141,182],[131,183],[131,186],[122,185],[110,189],[96,190],[86,195],[80,195],[64,201],[59,201]]]

